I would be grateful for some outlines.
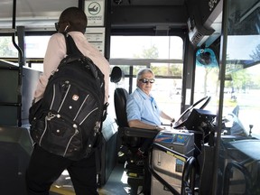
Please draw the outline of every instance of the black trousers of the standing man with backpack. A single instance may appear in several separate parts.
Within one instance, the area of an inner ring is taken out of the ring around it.
[[[34,146],[26,172],[28,195],[48,195],[51,184],[67,169],[77,195],[98,195],[95,154],[80,161],[49,153]]]

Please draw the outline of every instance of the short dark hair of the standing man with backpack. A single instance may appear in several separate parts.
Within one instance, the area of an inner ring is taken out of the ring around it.
[[[69,7],[60,14],[60,22],[70,23],[70,31],[86,32],[87,15],[78,7]]]

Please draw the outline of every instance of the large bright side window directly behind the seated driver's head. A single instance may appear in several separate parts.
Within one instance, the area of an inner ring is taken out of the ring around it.
[[[110,64],[124,70],[123,86],[129,93],[136,88],[137,71],[151,68],[154,98],[165,113],[177,118],[181,114],[182,52],[183,41],[177,36],[112,36]],[[110,88],[110,98],[113,91]]]

